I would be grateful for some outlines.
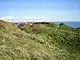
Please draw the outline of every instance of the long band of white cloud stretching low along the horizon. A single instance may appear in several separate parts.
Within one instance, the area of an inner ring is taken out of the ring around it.
[[[80,20],[55,20],[51,18],[40,18],[40,17],[13,17],[13,16],[4,16],[0,17],[0,20],[4,20],[7,22],[70,22],[70,21],[80,21]]]

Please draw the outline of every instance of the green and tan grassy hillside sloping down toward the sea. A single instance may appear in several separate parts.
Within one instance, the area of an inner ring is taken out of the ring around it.
[[[0,20],[0,60],[80,60],[80,29],[65,24]]]

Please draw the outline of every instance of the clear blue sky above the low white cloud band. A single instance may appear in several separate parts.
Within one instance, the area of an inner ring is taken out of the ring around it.
[[[80,0],[0,0],[0,16],[80,20]]]

